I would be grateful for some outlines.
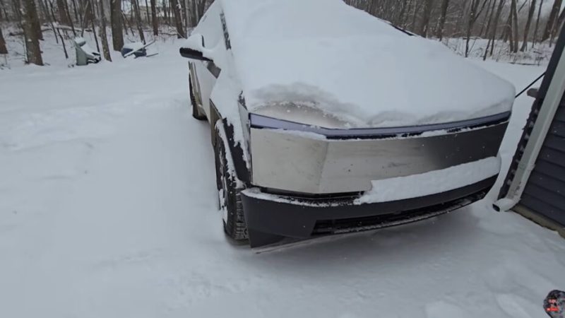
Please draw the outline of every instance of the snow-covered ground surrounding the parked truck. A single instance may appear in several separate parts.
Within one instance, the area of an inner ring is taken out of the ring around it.
[[[494,212],[498,189],[399,228],[230,244],[176,45],[0,71],[0,317],[545,317],[565,288],[565,240]],[[476,63],[517,88],[543,71]],[[516,102],[503,171],[531,102]]]

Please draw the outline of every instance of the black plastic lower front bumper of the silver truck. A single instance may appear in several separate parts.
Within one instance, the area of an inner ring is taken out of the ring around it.
[[[496,177],[448,192],[374,204],[354,204],[357,196],[306,199],[278,196],[266,199],[242,192],[251,247],[270,245],[285,237],[357,232],[400,225],[453,211],[484,198]]]

